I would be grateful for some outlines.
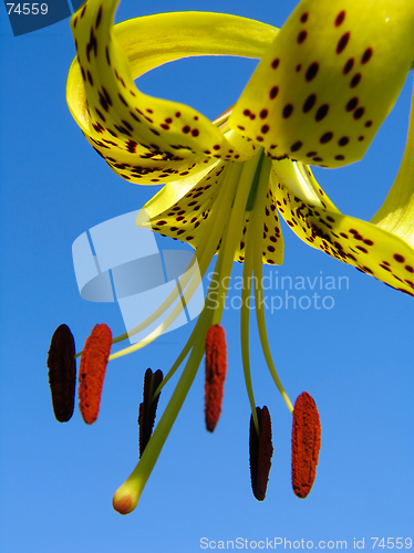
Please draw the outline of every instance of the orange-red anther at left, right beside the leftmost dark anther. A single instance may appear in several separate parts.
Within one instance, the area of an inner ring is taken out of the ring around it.
[[[106,324],[96,324],[81,357],[79,407],[83,420],[92,425],[100,411],[103,380],[112,346],[112,332]]]

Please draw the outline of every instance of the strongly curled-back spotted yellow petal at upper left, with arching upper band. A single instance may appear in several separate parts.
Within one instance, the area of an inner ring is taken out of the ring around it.
[[[231,144],[195,109],[142,94],[134,79],[189,55],[261,56],[277,30],[232,15],[192,12],[114,27],[117,3],[89,0],[72,17],[77,56],[66,86],[72,115],[110,167],[127,180],[157,184],[198,173],[206,157],[251,157],[251,143]]]

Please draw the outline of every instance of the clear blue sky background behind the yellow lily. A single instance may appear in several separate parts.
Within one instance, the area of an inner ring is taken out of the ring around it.
[[[296,3],[159,0],[156,10],[208,8],[281,27]],[[152,13],[148,8],[123,0],[116,19]],[[331,310],[267,313],[272,353],[290,397],[308,390],[319,407],[322,449],[312,492],[299,500],[291,491],[291,417],[252,325],[255,393],[258,405],[269,407],[275,448],[266,501],[252,497],[239,311],[228,310],[222,324],[229,369],[216,431],[209,435],[204,427],[200,369],[137,509],[124,518],[113,511],[113,492],[137,459],[144,372],[168,371],[193,324],[108,365],[95,425],[86,426],[79,411],[69,424],[55,421],[45,365],[54,328],[66,323],[77,349],[96,323],[107,323],[114,334],[124,331],[116,304],[81,299],[72,243],[91,227],[139,209],[155,189],[112,174],[72,119],[64,97],[74,56],[69,20],[14,38],[3,7],[0,17],[0,549],[193,553],[201,538],[303,539],[314,546],[320,540],[346,540],[348,549],[364,539],[372,549],[371,538],[413,538],[413,299],[311,250],[284,225],[284,264],[266,268],[266,275],[335,282],[346,276],[349,282],[346,289],[321,290],[333,298]],[[214,118],[237,100],[255,65],[238,59],[184,60],[144,76],[138,86]],[[381,206],[402,158],[411,87],[412,74],[362,161],[314,171],[343,212],[370,219]],[[159,244],[172,247],[167,240]],[[241,265],[235,265],[234,275],[240,274]],[[307,292],[291,293],[299,301]],[[172,389],[163,392],[161,410]]]

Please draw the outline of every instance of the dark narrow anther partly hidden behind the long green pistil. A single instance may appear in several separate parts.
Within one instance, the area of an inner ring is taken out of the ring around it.
[[[157,410],[159,394],[154,397],[154,390],[156,390],[159,384],[163,382],[163,372],[156,371],[152,372],[147,368],[144,376],[144,399],[139,404],[139,457],[143,455],[146,445],[149,441],[151,435],[153,434],[155,414]]]

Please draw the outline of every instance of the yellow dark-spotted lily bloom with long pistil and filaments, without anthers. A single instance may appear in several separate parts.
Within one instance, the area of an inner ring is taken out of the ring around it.
[[[66,88],[71,113],[117,175],[141,185],[165,185],[144,206],[151,228],[190,243],[201,276],[219,252],[205,310],[154,400],[189,354],[182,377],[137,467],[115,493],[115,509],[127,513],[136,507],[192,386],[206,335],[220,323],[234,260],[245,263],[241,351],[257,436],[261,427],[249,363],[252,282],[265,357],[293,413],[270,354],[260,303],[262,263],[283,261],[279,215],[312,248],[414,295],[413,121],[399,176],[371,222],[341,213],[306,165],[339,167],[361,159],[411,67],[414,4],[302,0],[279,32],[242,18],[192,12],[114,25],[117,3],[89,0],[71,20],[77,52]],[[261,59],[239,101],[216,122],[135,87],[134,80],[145,72],[193,55]],[[148,222],[139,219],[137,225]],[[197,285],[193,274],[186,271],[180,281],[186,301]],[[152,324],[175,300],[173,293],[152,317],[113,342]],[[180,304],[174,307],[149,336],[110,359],[144,347],[182,310]]]

